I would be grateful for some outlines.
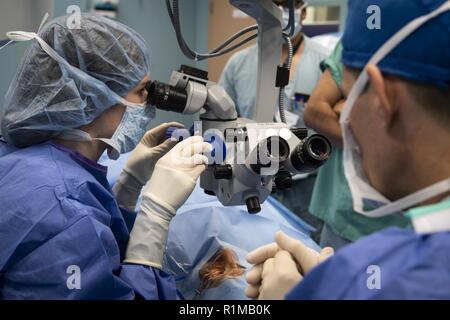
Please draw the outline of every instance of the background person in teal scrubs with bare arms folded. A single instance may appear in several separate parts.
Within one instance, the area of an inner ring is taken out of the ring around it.
[[[404,216],[368,218],[353,211],[352,195],[342,164],[342,130],[339,117],[345,104],[341,90],[342,43],[322,62],[324,70],[305,110],[305,123],[333,144],[333,153],[317,174],[309,211],[324,221],[320,246],[335,250],[389,226],[407,227]]]

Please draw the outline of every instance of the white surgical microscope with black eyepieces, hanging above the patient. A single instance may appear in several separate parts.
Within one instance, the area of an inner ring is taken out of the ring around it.
[[[238,118],[233,100],[208,73],[182,66],[168,84],[149,83],[149,103],[158,109],[181,114],[200,112],[194,134],[202,134],[213,145],[210,163],[200,177],[200,187],[224,206],[246,205],[251,214],[260,212],[271,193],[292,185],[292,176],[310,173],[322,166],[331,154],[331,144],[322,135],[308,136],[306,128],[289,128],[284,117],[284,87],[289,83],[292,62],[294,1],[289,1],[290,22],[283,30],[281,10],[272,0],[230,0],[253,17],[257,25],[234,35],[207,54],[192,51],[181,33],[178,1],[166,0],[177,39],[183,53],[193,60],[213,58],[257,38],[258,82],[254,119]],[[290,30],[290,31],[289,31]],[[231,48],[238,37],[252,36]],[[280,66],[283,41],[288,43],[288,63]],[[277,105],[282,122],[274,122]],[[174,132],[176,135],[176,132]],[[182,135],[184,136],[184,135]]]

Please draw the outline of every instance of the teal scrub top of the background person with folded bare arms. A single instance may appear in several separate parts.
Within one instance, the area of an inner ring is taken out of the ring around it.
[[[331,56],[322,62],[323,70],[329,69],[336,84],[342,84],[342,44],[339,42]],[[350,188],[344,175],[343,153],[333,148],[333,153],[318,172],[309,211],[328,224],[334,232],[346,240],[356,241],[387,227],[410,226],[403,215],[368,218],[353,211]]]

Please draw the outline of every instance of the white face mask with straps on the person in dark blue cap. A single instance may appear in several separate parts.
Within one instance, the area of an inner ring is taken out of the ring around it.
[[[406,39],[415,30],[420,28],[427,21],[436,16],[449,11],[450,2],[444,3],[435,11],[423,17],[419,17],[408,23],[397,34],[390,38],[370,59],[368,65],[378,64],[386,57],[400,42]],[[345,107],[341,114],[341,127],[344,140],[344,173],[347,178],[350,191],[353,197],[353,208],[368,217],[382,217],[393,213],[402,212],[406,208],[421,203],[425,200],[444,194],[450,190],[450,178],[436,183],[423,190],[417,191],[409,196],[391,202],[384,197],[378,190],[370,185],[370,182],[364,172],[360,148],[356,142],[353,132],[349,125],[349,118],[356,100],[364,91],[369,80],[366,69],[363,70],[358,80],[355,82]]]

